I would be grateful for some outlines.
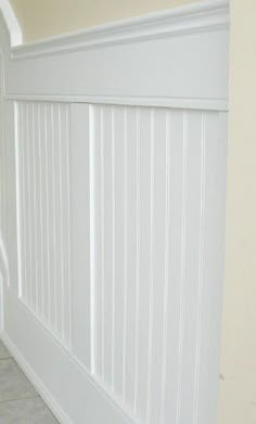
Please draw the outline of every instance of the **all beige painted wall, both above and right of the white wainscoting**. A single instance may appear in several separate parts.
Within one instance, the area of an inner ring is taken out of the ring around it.
[[[193,0],[12,0],[26,41]],[[256,424],[256,0],[231,1],[219,424]]]

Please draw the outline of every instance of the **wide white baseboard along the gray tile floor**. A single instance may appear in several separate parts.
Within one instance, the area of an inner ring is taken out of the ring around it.
[[[135,424],[5,286],[3,303],[0,337],[62,424]]]

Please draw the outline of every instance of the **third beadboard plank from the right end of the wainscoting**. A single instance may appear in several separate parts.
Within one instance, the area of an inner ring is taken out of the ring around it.
[[[168,245],[168,285],[165,323],[165,351],[163,375],[162,422],[175,422],[178,402],[179,364],[179,317],[181,296],[181,255],[182,255],[182,207],[184,187],[183,114],[170,112],[169,147],[169,245]],[[168,376],[171,375],[171,378]]]

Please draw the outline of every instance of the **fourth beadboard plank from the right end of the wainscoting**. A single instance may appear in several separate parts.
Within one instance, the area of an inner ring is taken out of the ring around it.
[[[149,399],[148,417],[150,423],[158,423],[162,407],[162,370],[163,356],[159,346],[163,346],[164,336],[164,287],[165,287],[165,233],[166,233],[166,184],[167,162],[166,146],[167,126],[165,111],[154,113],[153,142],[154,142],[154,177],[153,177],[153,243],[152,243],[152,281],[150,303],[150,337],[149,337]],[[154,399],[154,401],[153,401]]]

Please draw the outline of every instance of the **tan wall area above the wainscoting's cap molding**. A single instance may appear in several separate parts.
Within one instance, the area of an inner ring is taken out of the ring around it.
[[[25,42],[191,2],[193,0],[11,0]]]

